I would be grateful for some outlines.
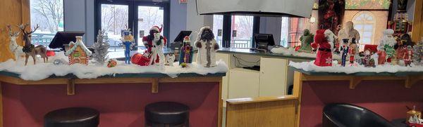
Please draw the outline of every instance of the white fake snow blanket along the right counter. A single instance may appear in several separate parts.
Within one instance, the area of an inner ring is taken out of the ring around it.
[[[416,66],[412,64],[412,67],[403,67],[400,65],[376,65],[376,67],[364,67],[364,65],[357,65],[357,67],[342,67],[338,64],[333,64],[332,67],[319,67],[314,65],[314,60],[311,62],[290,62],[290,67],[295,67],[296,69],[303,69],[307,72],[332,72],[332,73],[345,73],[345,74],[354,74],[357,72],[422,72],[423,66]],[[334,61],[333,63],[336,63]]]

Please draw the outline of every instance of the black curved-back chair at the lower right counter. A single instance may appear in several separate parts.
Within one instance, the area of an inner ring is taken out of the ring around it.
[[[323,109],[324,127],[395,127],[369,109],[356,105],[334,103]]]

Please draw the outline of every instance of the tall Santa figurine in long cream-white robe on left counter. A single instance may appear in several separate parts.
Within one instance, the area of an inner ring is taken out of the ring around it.
[[[197,64],[204,67],[216,66],[216,51],[219,49],[219,44],[216,43],[210,27],[200,29],[195,46],[198,48]]]

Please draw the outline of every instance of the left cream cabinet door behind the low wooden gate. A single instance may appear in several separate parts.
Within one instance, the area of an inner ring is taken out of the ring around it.
[[[254,98],[259,96],[259,71],[235,68],[231,73],[228,98]]]

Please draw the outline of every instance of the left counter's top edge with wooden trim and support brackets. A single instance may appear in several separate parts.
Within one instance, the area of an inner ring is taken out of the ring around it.
[[[66,84],[68,88],[68,95],[75,94],[75,83],[76,84],[106,84],[106,83],[151,83],[152,93],[158,93],[159,83],[176,83],[176,82],[221,82],[222,76],[226,73],[216,74],[195,74],[195,73],[183,73],[178,74],[178,77],[171,78],[167,74],[115,74],[113,76],[101,76],[97,79],[78,79],[73,74],[66,76],[50,76],[47,79],[39,81],[26,81],[20,79],[20,74],[13,72],[0,71],[0,83],[12,83],[15,85],[59,85]]]

